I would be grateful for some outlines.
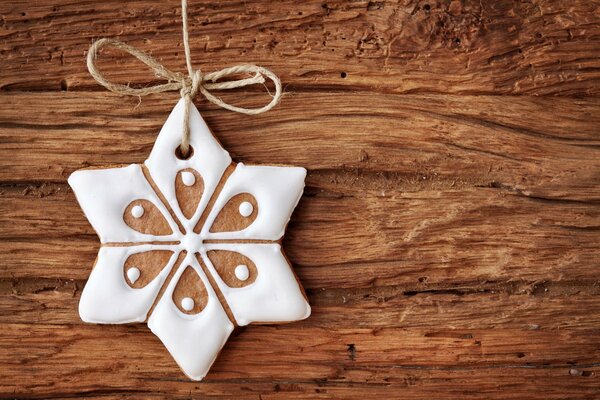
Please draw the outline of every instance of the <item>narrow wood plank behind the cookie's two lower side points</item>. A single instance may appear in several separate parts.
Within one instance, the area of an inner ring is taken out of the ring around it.
[[[591,332],[600,323],[600,315],[588,310],[598,307],[600,288],[584,283],[489,283],[453,290],[407,290],[402,286],[314,289],[309,290],[313,315],[301,329],[330,329],[332,334],[353,328],[428,329],[442,331],[442,337],[444,330],[467,334],[472,329]],[[83,284],[4,279],[0,281],[0,323],[83,326],[77,314]]]

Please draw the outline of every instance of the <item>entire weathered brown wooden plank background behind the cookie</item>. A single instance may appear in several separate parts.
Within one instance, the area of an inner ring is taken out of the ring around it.
[[[1,396],[600,398],[599,9],[192,0],[197,66],[285,84],[257,117],[196,104],[236,161],[309,170],[284,247],[313,306],[197,383],[145,325],[80,321],[98,239],[66,184],[150,152],[178,95],[111,94],[85,54],[115,37],[184,71],[178,1],[2,0]]]

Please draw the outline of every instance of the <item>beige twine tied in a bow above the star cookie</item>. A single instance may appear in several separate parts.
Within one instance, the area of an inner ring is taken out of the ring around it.
[[[189,109],[192,99],[196,97],[198,92],[211,103],[225,108],[230,111],[247,114],[257,115],[265,111],[269,111],[279,103],[281,99],[282,89],[281,81],[273,72],[266,68],[259,67],[253,64],[240,64],[229,68],[223,68],[219,71],[214,71],[206,75],[197,69],[194,70],[192,67],[189,34],[187,29],[187,1],[182,0],[181,2],[181,17],[183,20],[183,45],[185,48],[185,61],[187,65],[188,75],[185,76],[180,72],[173,72],[166,68],[164,65],[159,63],[155,58],[115,39],[100,39],[94,42],[88,51],[87,56],[87,67],[92,77],[100,85],[114,93],[130,95],[130,96],[146,96],[153,93],[162,93],[169,91],[177,91],[181,94],[184,99],[184,116],[183,116],[183,134],[181,138],[181,152],[184,156],[189,154],[190,150],[190,128],[189,128]],[[132,88],[129,85],[122,85],[114,83],[106,79],[96,66],[96,58],[98,52],[104,47],[112,47],[117,50],[124,51],[131,54],[144,64],[146,64],[154,75],[158,78],[166,79],[167,83],[158,84],[155,86],[148,86],[143,88]],[[252,76],[243,79],[227,80],[217,82],[219,79],[229,78],[233,75],[239,74],[252,74]],[[215,96],[211,90],[228,90],[236,89],[244,86],[264,84],[266,82],[265,77],[273,81],[275,84],[275,94],[272,96],[271,101],[260,108],[243,108],[226,103],[221,98]]]

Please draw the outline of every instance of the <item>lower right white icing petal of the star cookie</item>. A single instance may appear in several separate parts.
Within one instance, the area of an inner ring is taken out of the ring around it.
[[[307,318],[310,305],[279,244],[209,244],[207,250],[227,250],[249,258],[256,265],[256,280],[245,287],[230,287],[211,259],[202,255],[223,293],[238,325],[252,322],[290,322]]]

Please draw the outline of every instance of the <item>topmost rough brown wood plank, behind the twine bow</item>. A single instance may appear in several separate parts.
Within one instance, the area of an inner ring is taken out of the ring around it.
[[[294,89],[598,95],[597,0],[481,2],[417,0],[194,1],[196,65],[211,71],[254,62]],[[118,37],[183,70],[180,8],[150,0],[3,1],[0,87],[97,88],[84,54],[93,39]],[[147,70],[107,57],[121,82]]]

